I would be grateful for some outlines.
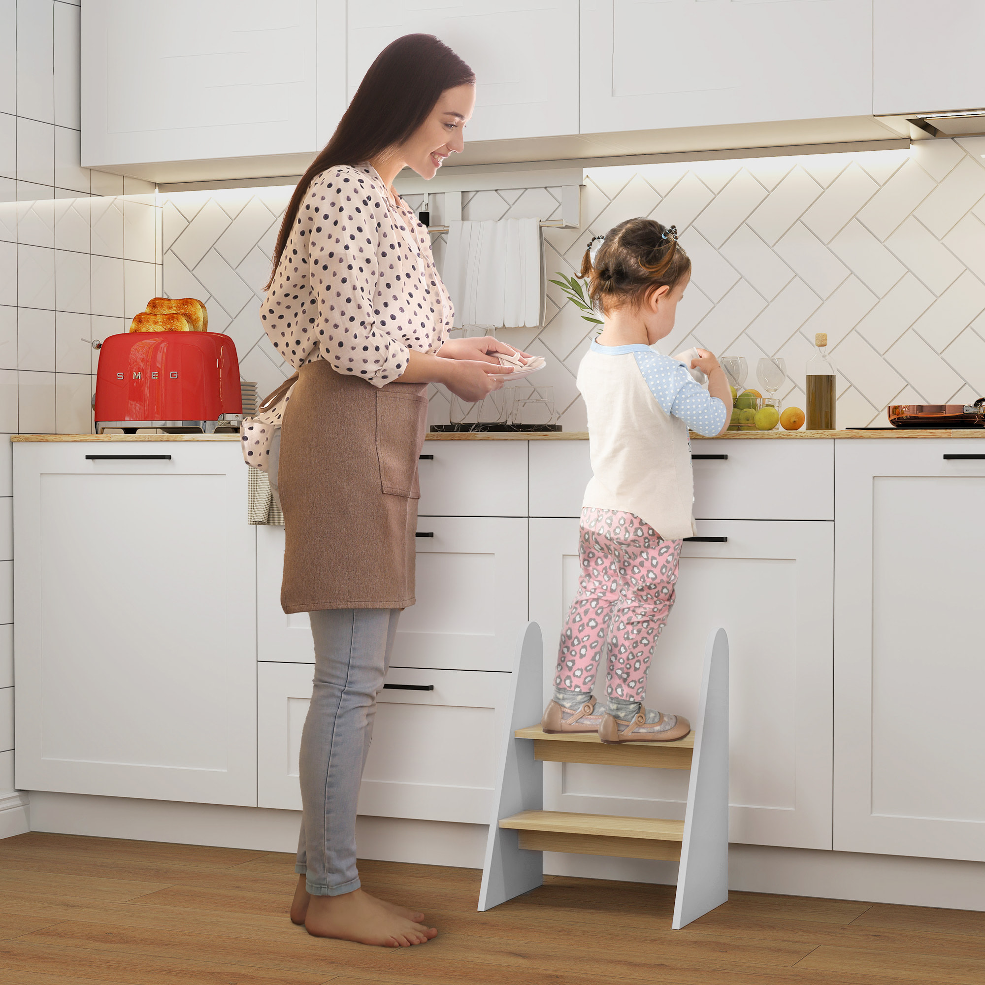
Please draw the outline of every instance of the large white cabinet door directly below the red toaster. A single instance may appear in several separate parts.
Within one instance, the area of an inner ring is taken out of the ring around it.
[[[256,805],[237,441],[16,442],[17,781]]]

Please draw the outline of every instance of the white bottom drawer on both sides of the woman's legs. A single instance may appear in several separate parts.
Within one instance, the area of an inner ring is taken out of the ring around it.
[[[299,811],[297,755],[310,666],[258,665],[260,807]],[[377,696],[359,813],[487,824],[509,674],[392,668]]]

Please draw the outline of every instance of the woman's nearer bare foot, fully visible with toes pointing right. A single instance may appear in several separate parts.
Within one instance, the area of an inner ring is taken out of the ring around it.
[[[394,913],[362,889],[339,896],[312,896],[304,927],[312,937],[334,937],[382,948],[410,948],[437,936],[433,927]]]

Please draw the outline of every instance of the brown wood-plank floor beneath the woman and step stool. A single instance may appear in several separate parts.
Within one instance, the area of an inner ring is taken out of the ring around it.
[[[290,855],[24,834],[0,841],[2,985],[881,985],[985,982],[985,913],[734,892],[683,931],[668,886],[549,877],[476,912],[471,869],[361,863],[433,941],[316,940]]]

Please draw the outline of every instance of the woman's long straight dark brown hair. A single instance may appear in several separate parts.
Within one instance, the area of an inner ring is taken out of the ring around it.
[[[433,34],[404,34],[376,56],[332,139],[297,182],[277,234],[270,290],[297,210],[316,174],[339,164],[361,164],[407,140],[446,89],[472,84],[476,74]]]

